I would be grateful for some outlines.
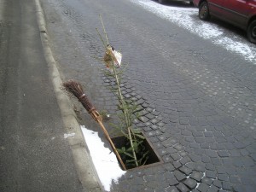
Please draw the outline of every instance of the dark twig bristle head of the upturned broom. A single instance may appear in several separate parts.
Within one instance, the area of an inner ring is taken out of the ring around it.
[[[79,102],[82,103],[88,113],[91,113],[91,111],[95,109],[94,106],[90,103],[88,97],[84,94],[82,84],[75,80],[68,80],[62,85],[64,87],[64,90],[67,90],[68,92],[72,93],[73,96],[79,99]]]

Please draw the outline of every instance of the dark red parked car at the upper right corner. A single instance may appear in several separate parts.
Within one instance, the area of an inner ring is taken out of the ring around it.
[[[256,44],[256,0],[194,0],[199,8],[199,18],[210,16],[227,21],[247,32],[247,38]]]

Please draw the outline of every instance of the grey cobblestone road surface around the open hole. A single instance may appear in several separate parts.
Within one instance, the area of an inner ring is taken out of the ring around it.
[[[63,79],[77,79],[99,110],[113,114],[111,79],[100,73],[101,14],[121,49],[125,97],[142,108],[135,124],[163,163],[129,171],[112,191],[254,192],[256,66],[129,1],[42,2]],[[96,125],[82,108],[83,123]],[[85,118],[84,118],[85,117]]]

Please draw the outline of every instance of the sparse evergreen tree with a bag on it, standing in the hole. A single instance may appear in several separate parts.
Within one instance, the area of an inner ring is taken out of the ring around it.
[[[102,17],[100,15],[102,21]],[[104,70],[106,76],[114,79],[115,84],[112,86],[112,91],[117,96],[119,104],[118,108],[121,113],[118,113],[119,125],[113,125],[113,128],[121,132],[122,136],[126,138],[126,143],[121,148],[117,148],[122,160],[127,168],[143,166],[148,160],[148,151],[143,145],[145,137],[143,137],[141,130],[134,128],[132,122],[138,118],[137,105],[133,105],[131,101],[125,99],[122,94],[120,84],[121,77],[125,71],[125,67],[121,66],[121,55],[108,43],[108,35],[102,21],[103,32],[106,40],[102,38],[101,33],[98,32],[102,44],[106,49],[104,59],[102,60],[107,67]]]

